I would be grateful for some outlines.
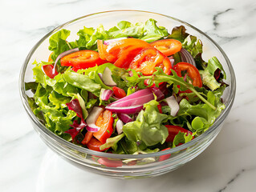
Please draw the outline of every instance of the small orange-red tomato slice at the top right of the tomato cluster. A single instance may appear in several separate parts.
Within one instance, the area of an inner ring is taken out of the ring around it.
[[[160,50],[161,53],[166,56],[176,54],[182,48],[181,42],[176,39],[162,39],[156,42],[151,42],[150,45],[155,47],[157,50]]]

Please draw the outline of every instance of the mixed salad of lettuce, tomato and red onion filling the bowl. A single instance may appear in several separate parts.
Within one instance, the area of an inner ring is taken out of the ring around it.
[[[144,154],[170,149],[208,130],[225,105],[226,73],[184,26],[154,19],[59,30],[51,54],[26,82],[31,110],[59,137],[90,150]]]

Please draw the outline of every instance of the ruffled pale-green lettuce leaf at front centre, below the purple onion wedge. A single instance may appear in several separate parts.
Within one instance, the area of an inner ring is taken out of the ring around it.
[[[167,121],[168,115],[159,113],[158,104],[155,100],[144,104],[145,110],[140,111],[136,121],[124,125],[124,134],[130,141],[139,141],[146,146],[165,142],[168,130],[162,122]]]

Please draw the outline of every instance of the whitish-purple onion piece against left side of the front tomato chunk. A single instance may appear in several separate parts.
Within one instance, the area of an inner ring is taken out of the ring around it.
[[[90,114],[88,115],[88,117],[86,118],[86,123],[87,123],[87,127],[86,129],[88,131],[91,132],[97,132],[98,130],[100,130],[99,126],[95,125],[95,122],[97,121],[97,118],[99,118],[100,113],[103,111],[103,108],[98,107],[98,106],[94,106],[90,112]]]

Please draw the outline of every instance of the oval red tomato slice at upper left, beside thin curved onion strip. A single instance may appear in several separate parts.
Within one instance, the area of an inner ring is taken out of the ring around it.
[[[104,61],[94,50],[79,50],[61,58],[60,63],[62,66],[73,66],[74,70],[79,70],[101,65]]]

